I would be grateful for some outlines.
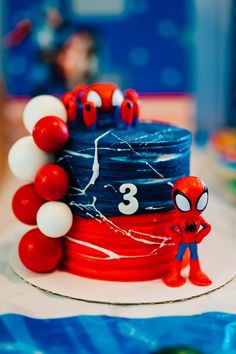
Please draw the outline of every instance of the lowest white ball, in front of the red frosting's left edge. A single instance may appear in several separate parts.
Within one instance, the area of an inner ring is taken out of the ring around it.
[[[64,236],[71,228],[73,214],[65,203],[47,202],[37,213],[37,225],[48,237]]]

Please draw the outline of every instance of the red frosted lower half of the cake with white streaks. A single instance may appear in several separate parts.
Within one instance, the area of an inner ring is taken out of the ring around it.
[[[143,281],[170,270],[176,246],[165,235],[175,212],[116,216],[109,219],[74,217],[64,237],[62,267],[86,278]]]

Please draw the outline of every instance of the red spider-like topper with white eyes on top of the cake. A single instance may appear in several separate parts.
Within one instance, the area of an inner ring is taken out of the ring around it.
[[[62,101],[67,109],[68,119],[82,116],[86,127],[96,125],[99,114],[116,115],[127,125],[132,125],[139,117],[139,97],[135,90],[125,91],[112,83],[96,83],[89,86],[78,85],[73,92],[64,94]]]

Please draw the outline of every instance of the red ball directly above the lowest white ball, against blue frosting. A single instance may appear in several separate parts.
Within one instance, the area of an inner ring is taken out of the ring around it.
[[[46,200],[59,200],[69,190],[69,178],[66,171],[54,164],[43,166],[35,177],[35,190]]]

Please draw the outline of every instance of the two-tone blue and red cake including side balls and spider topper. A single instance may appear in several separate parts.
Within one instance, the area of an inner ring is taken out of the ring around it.
[[[99,280],[163,277],[177,253],[165,230],[176,213],[172,187],[189,175],[191,133],[138,122],[136,92],[114,84],[78,86],[62,102],[32,99],[24,112],[32,136],[9,153],[28,182],[13,211],[37,225],[20,241],[22,263]]]

